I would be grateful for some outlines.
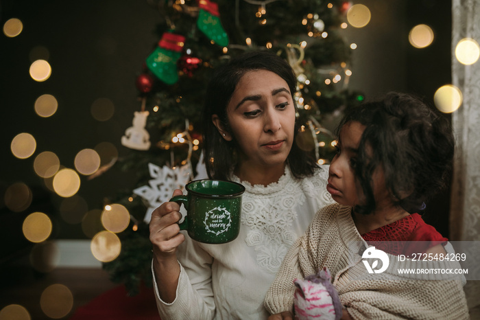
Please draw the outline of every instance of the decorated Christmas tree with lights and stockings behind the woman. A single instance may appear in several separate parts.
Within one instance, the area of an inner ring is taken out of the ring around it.
[[[289,62],[298,76],[295,93],[300,134],[296,143],[319,163],[333,157],[334,135],[324,127],[363,100],[348,89],[350,47],[342,31],[350,1],[325,0],[158,0],[158,43],[139,62],[139,108],[121,137],[131,149],[117,161],[136,172],[134,190],[111,203],[130,213],[130,225],[117,233],[121,252],[104,263],[112,281],[135,295],[141,282],[152,283],[148,220],[202,171],[200,114],[208,79],[229,58],[250,50],[269,50]],[[145,213],[146,212],[146,213]]]

